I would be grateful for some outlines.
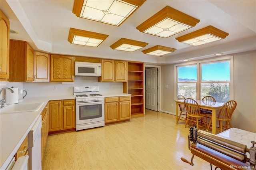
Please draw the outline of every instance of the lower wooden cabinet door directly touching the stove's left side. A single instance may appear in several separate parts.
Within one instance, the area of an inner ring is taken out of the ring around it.
[[[74,105],[63,107],[63,128],[75,128],[76,127],[76,115]]]

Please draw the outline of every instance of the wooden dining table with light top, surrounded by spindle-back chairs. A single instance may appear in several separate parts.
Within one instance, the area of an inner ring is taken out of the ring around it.
[[[184,100],[174,100],[176,101],[176,124],[178,124],[178,113],[179,113],[179,104],[184,104]],[[208,102],[205,103],[201,100],[196,100],[201,109],[212,110],[212,133],[216,134],[216,123],[217,123],[217,111],[224,105],[224,103],[219,102]]]

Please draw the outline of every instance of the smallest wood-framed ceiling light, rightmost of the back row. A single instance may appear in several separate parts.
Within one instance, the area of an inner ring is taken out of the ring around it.
[[[143,50],[142,53],[148,54],[148,55],[161,56],[161,55],[165,55],[165,54],[168,54],[168,53],[172,53],[175,50],[176,50],[175,48],[170,48],[170,47],[164,47],[164,46],[161,46],[161,45],[156,45],[154,47],[151,47],[151,48]]]

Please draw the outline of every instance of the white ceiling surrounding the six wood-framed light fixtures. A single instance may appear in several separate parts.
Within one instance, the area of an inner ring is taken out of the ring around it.
[[[100,3],[100,0],[99,0]],[[49,53],[100,57],[119,60],[143,61],[164,65],[214,57],[216,53],[228,55],[256,49],[255,0],[146,0],[119,27],[78,18],[72,13],[74,0],[0,0],[0,8],[10,20],[10,39],[27,41],[34,49]],[[193,28],[160,38],[136,29],[142,22],[170,6],[200,22]],[[175,38],[214,26],[229,35],[224,39],[204,45],[192,46]],[[68,42],[70,28],[109,35],[98,47],[74,45]],[[120,38],[146,42],[146,47],[134,52],[114,50],[110,47]],[[146,55],[141,51],[155,45],[177,49],[161,57]]]

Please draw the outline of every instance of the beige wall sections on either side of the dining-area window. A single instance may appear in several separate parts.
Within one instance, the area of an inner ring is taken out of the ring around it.
[[[256,51],[235,53],[233,127],[256,132]],[[176,115],[174,64],[162,66],[162,111]],[[168,85],[168,88],[166,88]],[[173,107],[170,106],[173,104]]]

